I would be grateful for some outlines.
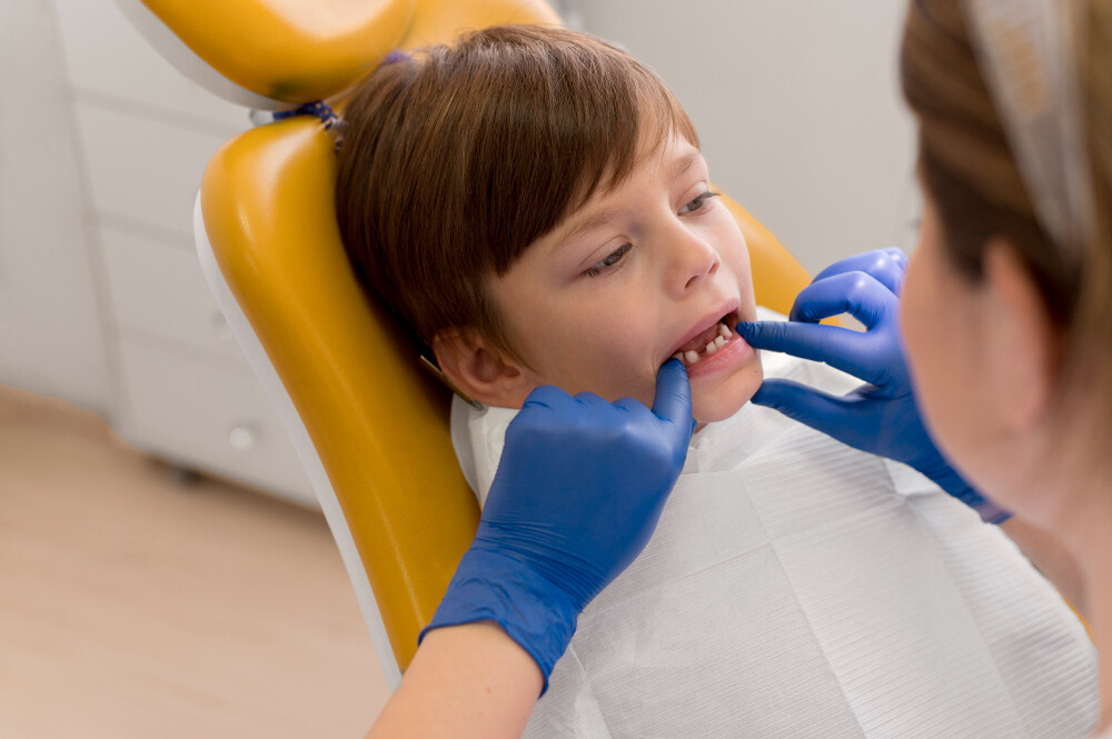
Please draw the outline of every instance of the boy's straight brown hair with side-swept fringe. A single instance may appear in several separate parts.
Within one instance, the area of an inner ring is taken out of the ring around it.
[[[344,119],[336,212],[360,281],[426,342],[470,324],[510,353],[484,279],[620,183],[652,137],[698,146],[628,54],[529,26],[380,66]]]

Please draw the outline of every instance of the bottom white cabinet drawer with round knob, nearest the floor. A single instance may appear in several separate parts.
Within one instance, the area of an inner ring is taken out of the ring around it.
[[[294,445],[249,373],[120,343],[120,436],[169,459],[316,505]]]

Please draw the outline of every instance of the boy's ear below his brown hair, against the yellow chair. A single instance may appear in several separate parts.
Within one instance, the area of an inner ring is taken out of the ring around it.
[[[520,408],[533,390],[527,373],[474,327],[454,326],[433,337],[440,370],[475,400],[500,408]]]

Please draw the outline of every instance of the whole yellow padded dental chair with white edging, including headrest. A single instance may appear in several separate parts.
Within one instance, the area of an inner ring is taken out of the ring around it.
[[[345,91],[394,49],[500,23],[559,23],[543,0],[116,1],[180,71],[265,111],[316,100],[339,110]],[[396,688],[479,510],[451,448],[450,393],[348,267],[335,173],[320,118],[237,136],[201,181],[197,252],[298,450]],[[788,312],[808,274],[723,201],[748,243],[757,302]]]

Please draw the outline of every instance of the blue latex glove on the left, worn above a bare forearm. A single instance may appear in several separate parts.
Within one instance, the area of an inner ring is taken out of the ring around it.
[[[669,359],[653,409],[537,388],[506,430],[478,531],[429,629],[497,621],[548,676],[584,607],[645,548],[695,430]]]

